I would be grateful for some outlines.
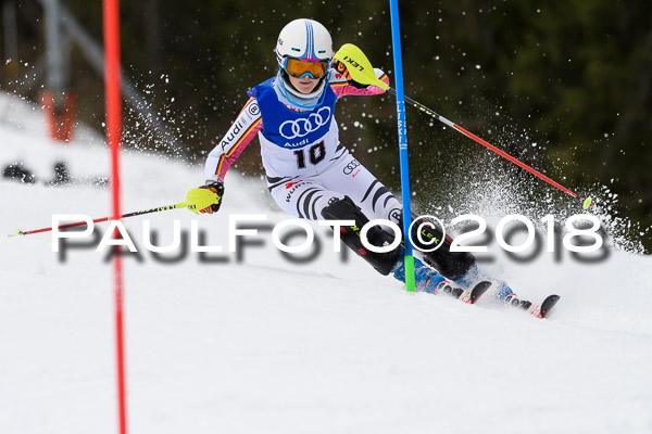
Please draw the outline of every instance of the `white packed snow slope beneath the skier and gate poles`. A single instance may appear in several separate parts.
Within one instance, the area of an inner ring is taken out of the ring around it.
[[[108,174],[102,140],[53,143],[37,112],[2,102],[0,164],[22,161],[37,182],[0,179],[0,232],[49,227],[53,214],[110,215],[109,190],[82,179]],[[58,161],[82,180],[46,186]],[[202,182],[201,167],[134,152],[122,176],[124,213],[180,202]],[[521,296],[562,296],[536,320],[490,296],[468,306],[409,295],[358,257],[342,260],[316,225],[313,260],[286,259],[269,230],[238,258],[229,216],[286,216],[262,180],[226,181],[217,215],[124,220],[139,247],[124,259],[130,432],[652,432],[652,257],[611,252],[591,265],[542,253],[519,264],[493,250],[485,267]],[[156,260],[145,220],[156,245],[173,241],[174,220],[187,233],[197,220],[203,245],[225,253]],[[117,431],[113,268],[95,246],[62,260],[49,232],[0,237],[0,432]]]

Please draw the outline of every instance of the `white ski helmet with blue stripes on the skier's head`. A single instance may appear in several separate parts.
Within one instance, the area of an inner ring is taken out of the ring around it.
[[[287,58],[308,62],[330,61],[333,40],[326,27],[316,21],[294,20],[280,30],[274,52],[281,69]]]

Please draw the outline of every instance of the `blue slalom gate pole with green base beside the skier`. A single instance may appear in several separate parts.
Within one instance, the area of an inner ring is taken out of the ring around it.
[[[405,123],[405,94],[403,92],[403,59],[401,56],[401,30],[399,0],[389,0],[391,41],[394,58],[394,89],[397,93],[397,122],[399,125],[399,158],[401,165],[401,193],[403,199],[403,233],[405,234],[405,286],[414,291],[414,256],[410,241],[410,170],[408,166],[408,125]]]

